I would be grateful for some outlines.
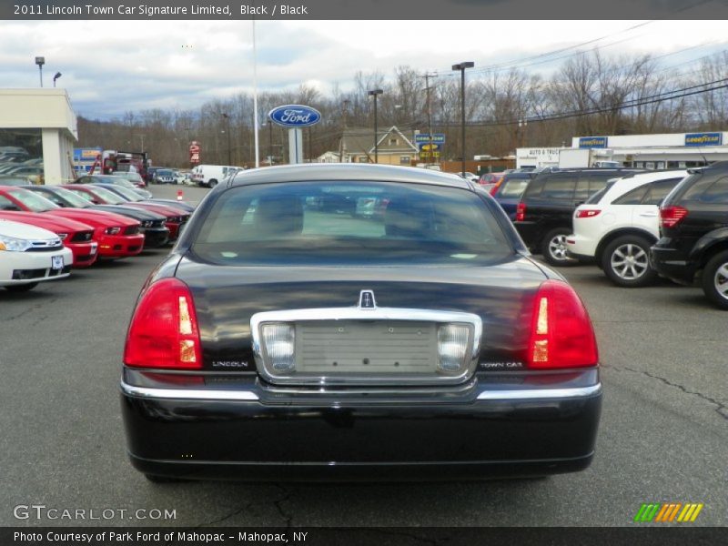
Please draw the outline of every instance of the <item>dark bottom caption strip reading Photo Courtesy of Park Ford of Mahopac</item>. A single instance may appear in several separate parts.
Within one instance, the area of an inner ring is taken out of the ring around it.
[[[707,546],[724,528],[671,527],[21,527],[0,528],[3,546]]]

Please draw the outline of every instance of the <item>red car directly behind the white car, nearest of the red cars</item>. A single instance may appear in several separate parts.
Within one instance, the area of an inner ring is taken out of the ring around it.
[[[0,196],[0,219],[13,220],[21,224],[43,227],[48,231],[53,231],[63,240],[64,247],[73,252],[74,268],[87,268],[96,262],[98,243],[93,240],[93,227],[68,218],[52,217],[35,212],[19,212],[16,209],[10,211],[5,208],[6,206],[5,197]]]

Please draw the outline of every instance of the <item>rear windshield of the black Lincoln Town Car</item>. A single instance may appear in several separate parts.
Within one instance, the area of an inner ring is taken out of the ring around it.
[[[469,190],[387,182],[233,187],[192,251],[225,265],[492,263],[513,249]]]

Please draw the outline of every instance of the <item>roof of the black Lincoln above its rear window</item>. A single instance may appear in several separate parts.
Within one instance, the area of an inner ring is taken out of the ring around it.
[[[271,184],[275,182],[303,181],[376,181],[404,182],[411,184],[432,184],[435,186],[472,189],[470,181],[448,176],[428,168],[399,167],[389,165],[359,165],[351,163],[309,163],[259,167],[239,171],[228,186],[248,184]]]

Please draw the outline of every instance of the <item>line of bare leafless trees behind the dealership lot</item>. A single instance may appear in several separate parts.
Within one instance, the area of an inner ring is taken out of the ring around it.
[[[304,129],[309,160],[339,150],[349,131],[372,132],[378,96],[378,126],[444,133],[443,158],[460,159],[460,74],[427,75],[399,66],[354,76],[350,91],[329,96],[310,86],[258,93],[258,147],[261,164],[285,162],[287,129],[270,124],[268,111],[285,104],[313,106],[321,122]],[[650,55],[603,56],[581,52],[551,76],[510,67],[466,71],[466,158],[502,157],[516,147],[569,146],[572,136],[637,135],[720,131],[728,126],[728,51],[705,56],[676,74]],[[428,100],[429,99],[429,100]],[[253,96],[209,101],[197,109],[126,112],[114,121],[78,118],[80,147],[146,151],[155,165],[188,167],[188,145],[197,140],[203,163],[255,163]]]

